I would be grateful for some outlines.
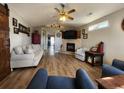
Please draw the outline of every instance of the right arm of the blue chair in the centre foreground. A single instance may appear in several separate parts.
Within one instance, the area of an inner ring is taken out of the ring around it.
[[[87,72],[83,69],[79,69],[76,72],[76,88],[78,89],[96,89],[97,86],[90,79]]]

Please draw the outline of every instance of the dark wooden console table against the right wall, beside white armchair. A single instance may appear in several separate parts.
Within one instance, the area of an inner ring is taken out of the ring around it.
[[[100,65],[102,66],[102,64],[103,64],[103,56],[104,56],[104,53],[86,51],[85,52],[85,62],[89,63],[88,62],[88,57],[91,57],[91,59],[92,59],[91,65],[94,66],[94,64],[95,64],[94,58],[95,57],[100,57]]]

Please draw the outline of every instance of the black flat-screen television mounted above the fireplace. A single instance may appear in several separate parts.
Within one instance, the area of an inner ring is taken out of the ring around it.
[[[77,39],[77,31],[76,30],[68,30],[63,32],[64,39]]]

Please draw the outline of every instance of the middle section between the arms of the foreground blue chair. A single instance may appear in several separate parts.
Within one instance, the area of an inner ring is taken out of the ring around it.
[[[74,89],[75,82],[73,78],[62,76],[49,76],[47,89]]]

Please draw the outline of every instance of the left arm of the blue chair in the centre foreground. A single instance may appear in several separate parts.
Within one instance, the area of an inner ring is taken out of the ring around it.
[[[30,84],[28,89],[45,89],[47,85],[48,74],[45,69],[39,69]]]

